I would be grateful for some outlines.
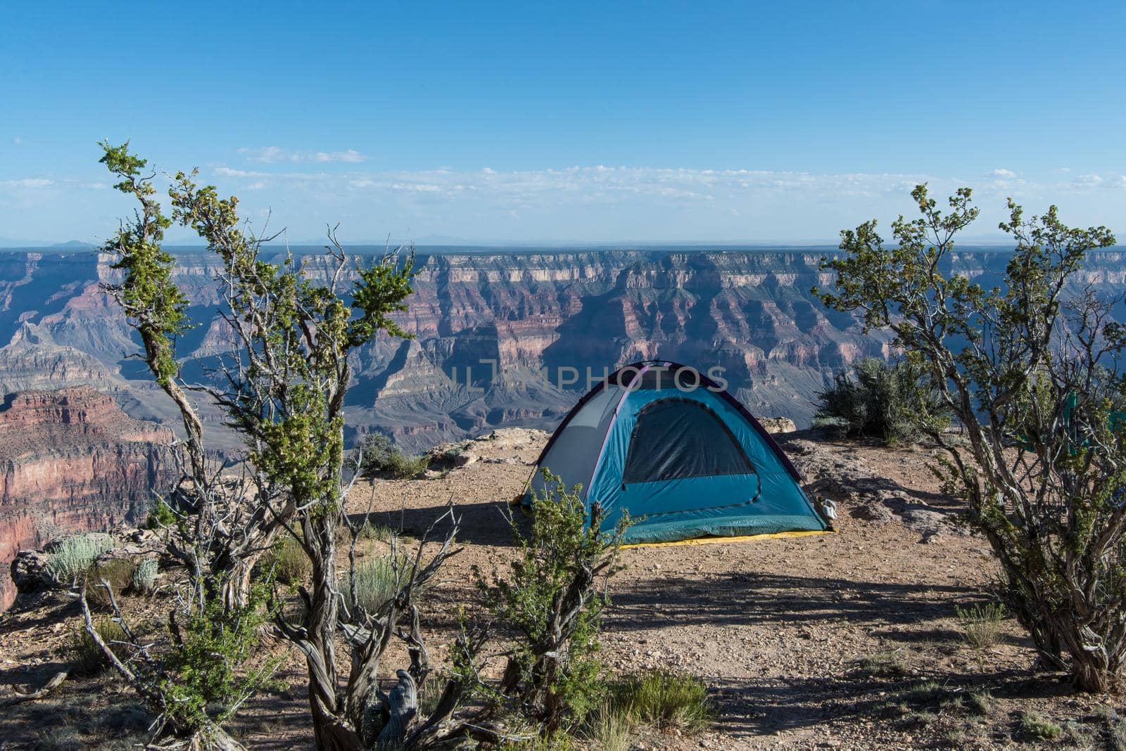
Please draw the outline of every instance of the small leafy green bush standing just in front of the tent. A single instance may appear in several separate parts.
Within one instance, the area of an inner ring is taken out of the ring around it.
[[[513,523],[516,560],[509,573],[486,580],[474,568],[490,613],[516,634],[509,670],[529,704],[540,705],[545,726],[581,722],[606,696],[598,659],[598,632],[609,603],[595,589],[599,574],[610,576],[623,518],[613,533],[600,531],[601,509],[588,518],[579,486],[568,488],[543,470],[545,490],[531,499],[531,530]]]

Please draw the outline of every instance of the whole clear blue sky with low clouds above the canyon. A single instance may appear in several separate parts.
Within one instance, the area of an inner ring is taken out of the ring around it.
[[[104,137],[294,241],[831,241],[920,180],[1126,234],[1126,3],[234,4],[5,6],[0,238],[108,235]]]

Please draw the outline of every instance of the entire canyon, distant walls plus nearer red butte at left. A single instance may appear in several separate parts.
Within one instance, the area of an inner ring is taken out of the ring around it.
[[[302,251],[302,262],[327,278],[324,256],[312,250]],[[421,451],[495,427],[552,429],[599,378],[656,358],[722,373],[752,413],[808,426],[833,372],[860,358],[895,355],[887,334],[865,333],[856,317],[825,309],[811,292],[832,284],[820,264],[833,252],[420,252],[410,307],[396,316],[411,338],[381,335],[352,355],[346,438],[379,431]],[[198,250],[175,255],[175,280],[195,324],[177,353],[186,379],[207,381],[229,347],[216,260]],[[967,248],[947,271],[991,287],[1007,259]],[[45,540],[44,527],[96,528],[135,515],[151,497],[143,486],[168,470],[159,446],[171,440],[176,415],[132,356],[138,342],[101,287],[116,274],[111,259],[93,252],[0,252],[0,396],[41,395],[9,397],[0,422],[0,467],[9,478],[37,478],[5,491],[5,551]],[[1075,287],[1112,293],[1124,281],[1126,254],[1106,251],[1090,255]],[[70,407],[48,406],[52,398],[101,405],[86,414],[101,415],[102,427],[57,422]],[[211,451],[238,459],[240,443],[222,413],[199,407]],[[75,429],[82,425],[90,429]],[[75,441],[88,444],[78,449]]]

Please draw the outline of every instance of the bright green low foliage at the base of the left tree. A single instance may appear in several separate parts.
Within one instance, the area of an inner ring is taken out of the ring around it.
[[[222,725],[253,694],[275,686],[280,658],[258,659],[259,631],[270,614],[256,587],[245,606],[208,599],[172,627],[161,655],[159,687],[166,715],[180,727]]]

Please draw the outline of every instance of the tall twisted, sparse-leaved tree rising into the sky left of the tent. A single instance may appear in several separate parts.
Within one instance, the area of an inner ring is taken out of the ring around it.
[[[300,540],[313,562],[306,623],[283,633],[305,652],[311,676],[320,677],[314,667],[325,663],[334,670],[336,528],[348,490],[342,474],[348,355],[381,332],[406,336],[391,315],[405,309],[413,257],[391,251],[358,265],[330,232],[316,268],[292,255],[267,262],[261,251],[270,238],[252,234],[239,219],[238,199],[197,186],[195,173],[178,173],[169,190],[169,217],[145,160],[128,144],[104,143],[102,151],[101,162],[118,179],[116,189],[138,203],[102,248],[116,257],[120,273],[105,289],[137,332],[141,356],[180,416],[182,438],[173,451],[181,478],[168,499],[175,519],[162,532],[187,572],[169,613],[168,643],[158,649],[131,640],[126,659],[111,659],[159,714],[169,745],[239,748],[222,722],[260,686],[231,666],[251,655],[248,644],[257,639],[265,601],[251,572],[278,534]],[[187,297],[173,278],[176,260],[161,246],[173,221],[195,229],[218,260],[218,315],[231,346],[207,384],[184,380],[176,350],[191,323]],[[222,407],[227,425],[242,435],[247,452],[238,468],[211,459],[199,399]],[[404,605],[410,607],[409,597]],[[116,616],[124,624],[119,612]],[[223,649],[199,649],[200,640]],[[111,650],[106,646],[106,652]],[[170,684],[164,673],[176,664],[182,671],[172,675],[205,678]],[[334,678],[330,672],[329,680]],[[218,688],[208,694],[191,686]],[[216,700],[223,709],[209,712]],[[341,712],[337,686],[314,681],[311,703],[314,715]]]

